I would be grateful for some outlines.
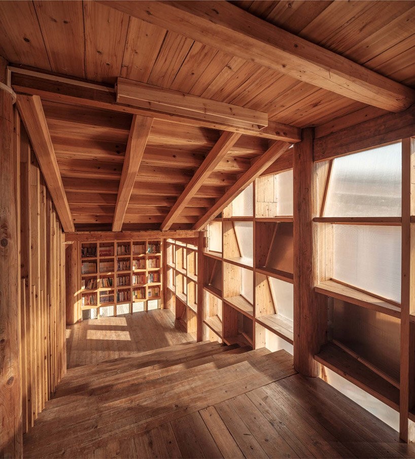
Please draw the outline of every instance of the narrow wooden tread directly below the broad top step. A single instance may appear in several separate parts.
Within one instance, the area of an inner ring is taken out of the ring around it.
[[[84,382],[82,384],[58,387],[53,401],[70,395],[76,397],[79,397],[81,394],[91,395],[92,389],[97,389],[102,386],[105,386],[107,390],[111,390],[114,389],[117,384],[128,385],[129,383],[132,383],[133,380],[148,381],[160,378],[162,375],[176,373],[180,370],[197,367],[209,362],[216,362],[223,354],[229,356],[244,353],[249,350],[249,347],[219,345],[214,350],[211,350],[208,355],[200,353],[195,355],[193,359],[186,360],[186,362],[182,362],[181,359],[177,359],[175,362],[162,362],[151,367],[143,368],[137,368],[136,365],[134,365],[134,362],[131,362],[130,367],[125,368],[123,372],[112,373],[105,371],[100,378],[94,378],[93,380],[88,380],[88,382]],[[54,404],[51,406],[54,406]]]

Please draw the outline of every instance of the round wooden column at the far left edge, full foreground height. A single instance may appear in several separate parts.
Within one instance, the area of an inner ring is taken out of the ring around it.
[[[0,87],[0,456],[22,457],[20,304],[13,95]]]

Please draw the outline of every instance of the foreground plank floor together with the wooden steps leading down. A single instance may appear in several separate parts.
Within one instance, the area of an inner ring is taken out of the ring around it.
[[[188,342],[68,370],[24,454],[415,457],[415,448],[324,381],[296,374],[286,351]]]

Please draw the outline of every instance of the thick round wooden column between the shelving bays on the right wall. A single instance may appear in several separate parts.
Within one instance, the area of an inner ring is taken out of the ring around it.
[[[316,214],[313,174],[314,129],[302,131],[294,145],[294,368],[305,376],[319,376],[314,355],[325,341],[326,309],[314,291],[317,264],[313,247]]]

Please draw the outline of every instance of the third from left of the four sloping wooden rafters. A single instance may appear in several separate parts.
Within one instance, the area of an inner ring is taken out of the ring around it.
[[[216,166],[220,163],[226,153],[239,139],[240,134],[225,132],[221,135],[218,142],[204,159],[199,169],[196,171],[190,182],[187,184],[183,193],[179,196],[176,204],[170,209],[163,223],[161,224],[162,231],[169,229],[172,223],[175,222],[178,215],[188,205],[190,200],[195,196],[199,188],[203,185],[206,178],[213,172]]]

